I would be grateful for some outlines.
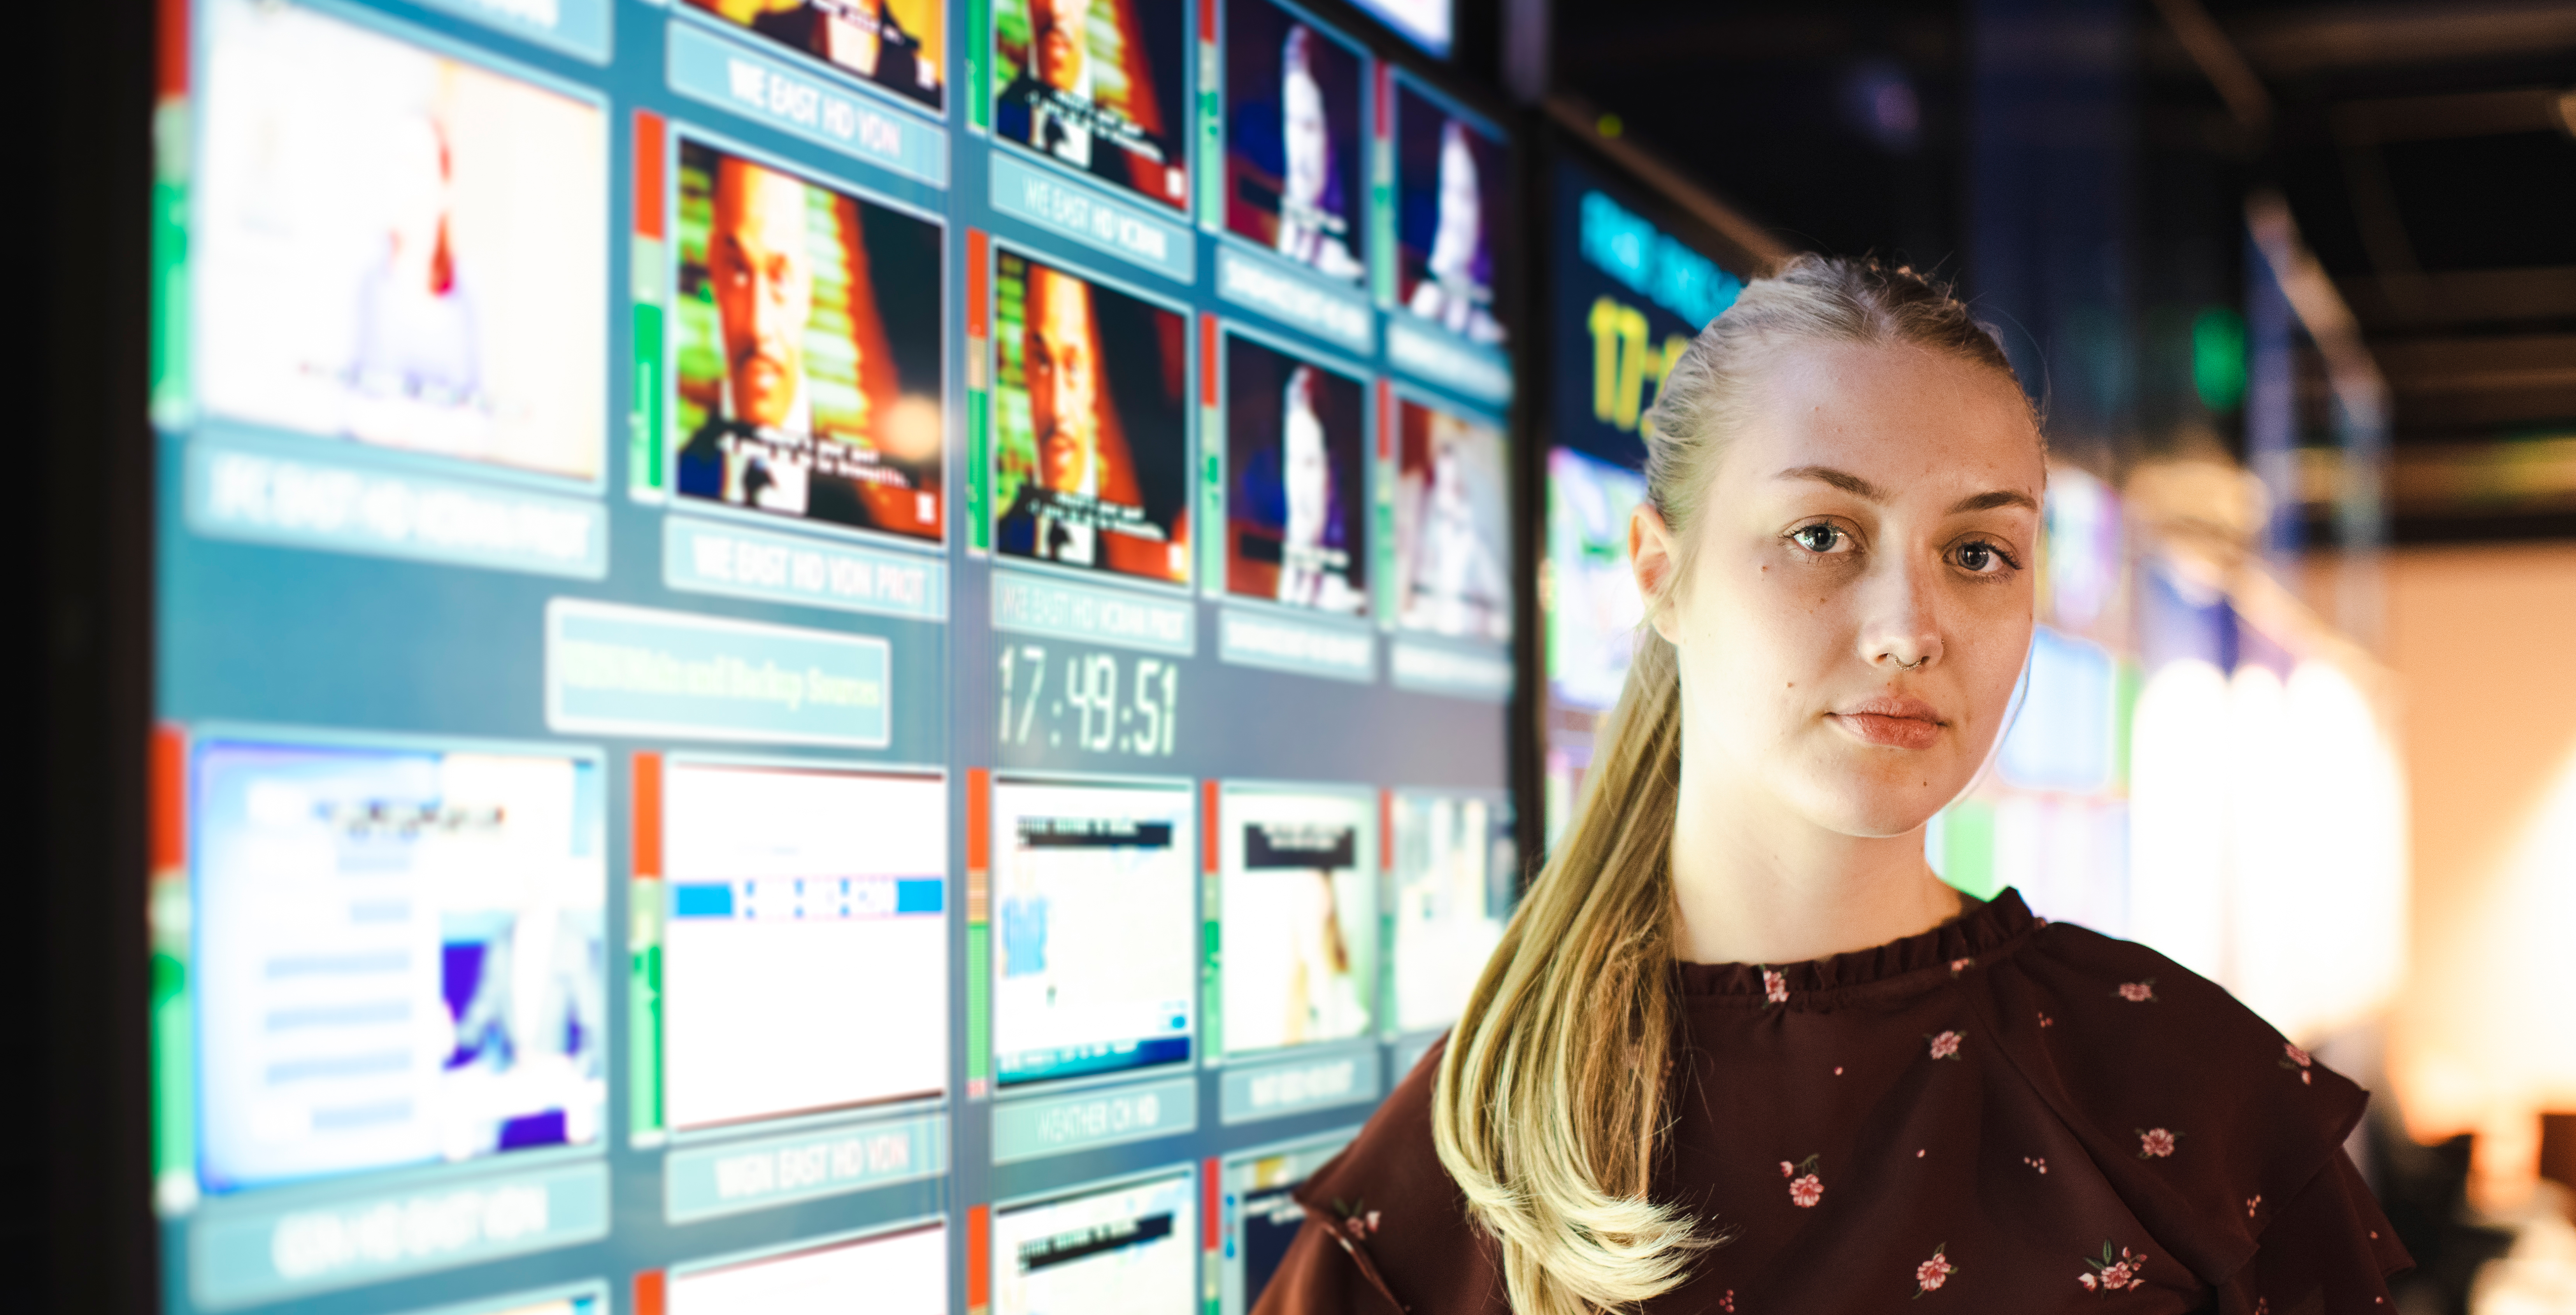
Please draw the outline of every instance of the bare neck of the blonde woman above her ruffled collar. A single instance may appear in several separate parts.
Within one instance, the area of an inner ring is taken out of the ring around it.
[[[1922,831],[1844,836],[1757,782],[1692,787],[1672,818],[1672,890],[1687,962],[1801,962],[1929,932],[1968,898],[1924,862]]]

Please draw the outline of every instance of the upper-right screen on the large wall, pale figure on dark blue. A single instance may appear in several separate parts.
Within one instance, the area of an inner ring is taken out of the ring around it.
[[[1510,147],[1396,80],[1396,301],[1471,342],[1502,342],[1494,252],[1512,216]]]

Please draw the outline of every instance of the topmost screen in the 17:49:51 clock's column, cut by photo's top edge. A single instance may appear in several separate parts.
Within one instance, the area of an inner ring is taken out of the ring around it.
[[[994,136],[1185,208],[1185,23],[1182,0],[997,0]]]

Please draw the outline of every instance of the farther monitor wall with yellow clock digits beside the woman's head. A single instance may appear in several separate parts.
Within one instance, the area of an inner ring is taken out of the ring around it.
[[[1646,499],[1646,412],[1664,373],[1744,291],[1708,242],[1677,237],[1654,193],[1587,154],[1548,167],[1548,450],[1543,836],[1564,831],[1592,733],[1628,679],[1646,605],[1628,515]]]

